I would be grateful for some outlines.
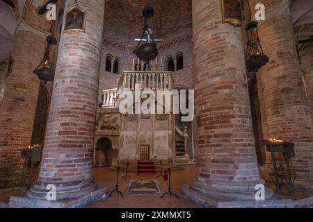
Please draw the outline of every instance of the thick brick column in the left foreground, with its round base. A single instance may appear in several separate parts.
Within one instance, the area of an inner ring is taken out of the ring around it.
[[[104,2],[78,1],[87,11],[86,31],[61,35],[40,175],[31,198],[46,198],[49,184],[56,185],[57,200],[97,188],[92,162]],[[65,14],[73,3],[66,1]]]

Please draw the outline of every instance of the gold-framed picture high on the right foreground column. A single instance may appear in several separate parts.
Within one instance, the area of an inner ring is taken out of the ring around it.
[[[242,25],[242,2],[241,0],[220,0],[222,8],[222,22],[232,26]]]

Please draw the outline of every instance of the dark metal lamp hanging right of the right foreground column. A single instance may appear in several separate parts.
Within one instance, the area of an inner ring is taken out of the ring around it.
[[[261,67],[266,65],[269,61],[268,56],[263,52],[261,42],[259,41],[259,31],[257,29],[259,23],[252,20],[252,13],[250,9],[249,1],[246,0],[249,10],[249,22],[245,27],[247,35],[246,46],[246,68],[248,72],[258,71]]]

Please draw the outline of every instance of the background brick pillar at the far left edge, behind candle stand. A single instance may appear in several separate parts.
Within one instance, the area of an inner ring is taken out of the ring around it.
[[[31,145],[40,80],[33,74],[42,60],[45,35],[17,29],[13,71],[0,102],[0,188],[15,187],[22,175],[21,151]]]

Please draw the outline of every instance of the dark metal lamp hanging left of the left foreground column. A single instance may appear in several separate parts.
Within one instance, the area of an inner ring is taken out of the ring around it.
[[[54,45],[57,43],[57,40],[52,35],[47,36],[47,49],[45,52],[45,56],[38,65],[38,67],[33,71],[33,73],[38,76],[40,80],[43,80],[46,84],[49,81],[54,80],[54,71],[51,69],[51,63],[49,58],[50,45]]]

